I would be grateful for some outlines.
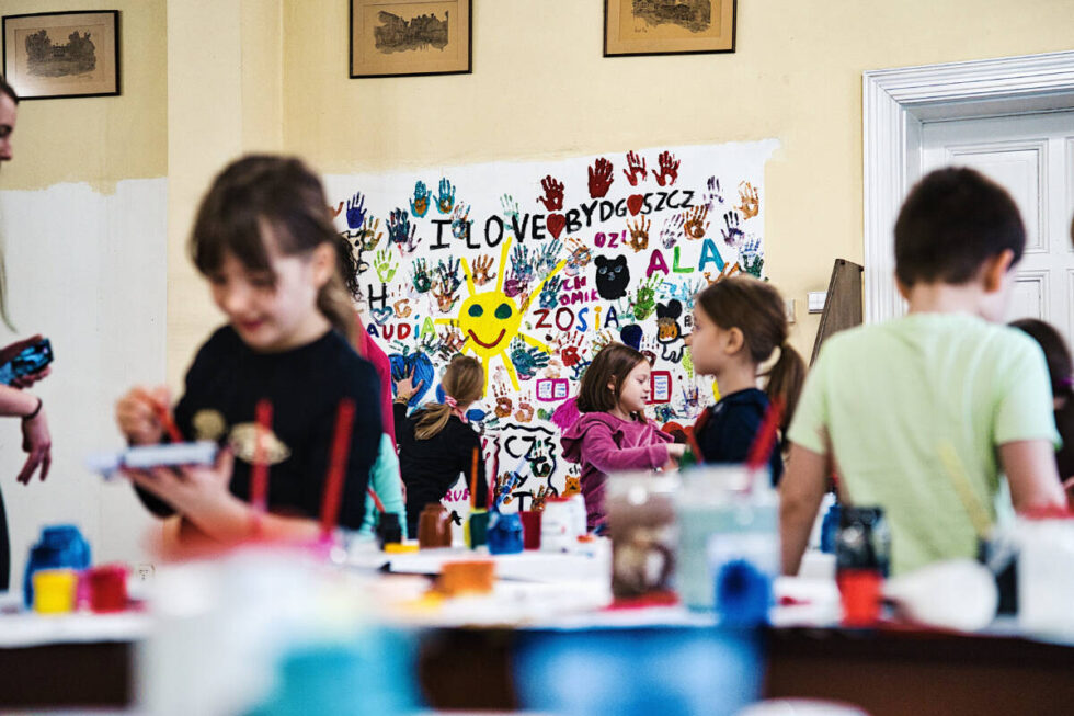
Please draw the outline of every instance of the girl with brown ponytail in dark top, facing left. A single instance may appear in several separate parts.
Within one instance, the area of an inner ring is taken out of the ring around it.
[[[806,363],[787,343],[787,317],[778,291],[752,276],[710,285],[695,298],[694,332],[687,344],[694,368],[716,376],[721,395],[694,428],[699,459],[745,462],[769,404],[777,399],[784,407],[779,429],[786,431],[806,380]],[[761,390],[761,365],[777,352]],[[773,451],[769,465],[775,485],[784,471],[779,450]]]

